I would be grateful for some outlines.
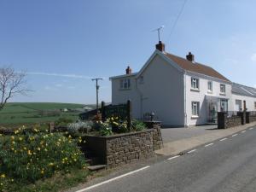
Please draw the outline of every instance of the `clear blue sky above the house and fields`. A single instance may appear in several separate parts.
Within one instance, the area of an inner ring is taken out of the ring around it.
[[[256,86],[256,1],[0,0],[0,67],[27,73],[33,90],[12,102],[111,102],[109,77],[143,67],[164,25],[166,51]],[[180,10],[183,12],[177,20]],[[175,20],[177,24],[174,26]]]

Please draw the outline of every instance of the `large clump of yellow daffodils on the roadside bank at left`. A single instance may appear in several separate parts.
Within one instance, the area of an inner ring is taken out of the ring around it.
[[[55,172],[86,168],[79,141],[61,133],[15,131],[13,136],[0,136],[0,191],[8,191],[14,181],[34,183]]]

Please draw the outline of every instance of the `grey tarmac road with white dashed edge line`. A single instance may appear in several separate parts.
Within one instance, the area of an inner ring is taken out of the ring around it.
[[[256,127],[90,186],[90,192],[254,192]]]

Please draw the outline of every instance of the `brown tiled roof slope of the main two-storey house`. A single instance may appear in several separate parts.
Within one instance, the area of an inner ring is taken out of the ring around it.
[[[226,79],[222,74],[215,71],[212,67],[208,67],[205,65],[202,65],[198,62],[191,62],[186,59],[183,59],[182,57],[179,57],[177,55],[172,55],[169,53],[164,53],[169,59],[176,62],[178,66],[182,67],[186,71],[195,72],[195,73],[201,73],[213,78],[222,79],[224,81],[229,81],[229,79]]]

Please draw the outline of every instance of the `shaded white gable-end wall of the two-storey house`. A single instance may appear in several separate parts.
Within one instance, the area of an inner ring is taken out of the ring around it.
[[[155,55],[141,76],[144,83],[138,77],[137,88],[143,95],[143,113],[154,112],[163,125],[183,126],[183,72]]]

